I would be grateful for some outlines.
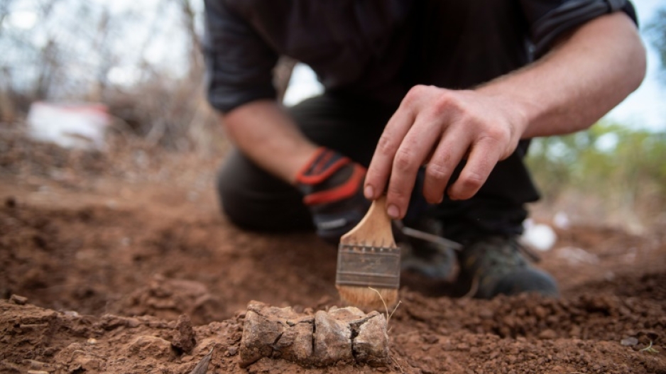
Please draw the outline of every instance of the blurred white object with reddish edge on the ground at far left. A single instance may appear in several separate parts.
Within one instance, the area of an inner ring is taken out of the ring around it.
[[[28,136],[64,148],[102,150],[110,119],[104,104],[34,102],[28,112]]]

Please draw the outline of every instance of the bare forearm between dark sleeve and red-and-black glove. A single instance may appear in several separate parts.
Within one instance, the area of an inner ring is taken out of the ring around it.
[[[291,184],[317,146],[307,140],[280,104],[252,101],[222,117],[227,136],[246,156]]]

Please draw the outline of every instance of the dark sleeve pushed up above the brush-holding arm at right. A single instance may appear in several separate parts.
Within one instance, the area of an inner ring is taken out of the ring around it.
[[[530,23],[535,58],[552,47],[559,35],[607,13],[623,11],[638,25],[628,0],[520,0]]]

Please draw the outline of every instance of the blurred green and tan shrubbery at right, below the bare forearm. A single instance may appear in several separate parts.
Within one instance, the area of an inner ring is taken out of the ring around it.
[[[579,209],[644,223],[666,211],[666,131],[602,122],[535,139],[527,162],[546,204],[573,199]]]

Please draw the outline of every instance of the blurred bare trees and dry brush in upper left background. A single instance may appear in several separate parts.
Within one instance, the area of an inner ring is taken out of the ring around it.
[[[0,1],[0,120],[31,102],[93,101],[115,128],[172,150],[211,150],[202,1]]]

